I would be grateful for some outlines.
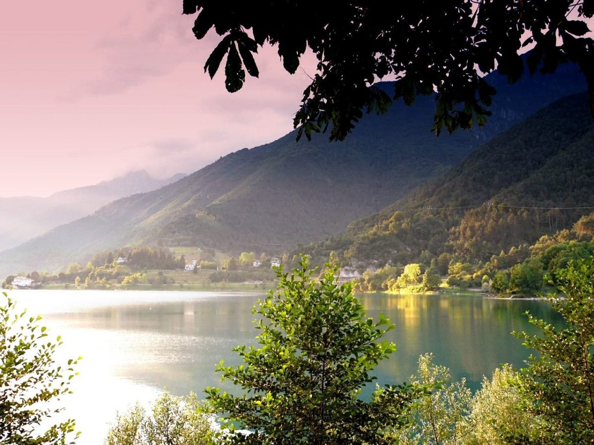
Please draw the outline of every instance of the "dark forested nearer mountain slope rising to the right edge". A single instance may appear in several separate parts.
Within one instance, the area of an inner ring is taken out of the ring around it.
[[[449,253],[473,262],[532,244],[594,211],[594,120],[586,94],[562,98],[405,199],[306,251],[359,268]]]

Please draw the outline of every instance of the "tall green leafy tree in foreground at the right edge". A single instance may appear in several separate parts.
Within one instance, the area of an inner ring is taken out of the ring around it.
[[[529,321],[541,332],[522,332],[531,355],[527,367],[526,390],[535,399],[533,409],[548,426],[542,443],[594,442],[594,259],[572,261],[556,272],[557,285],[565,295],[549,295],[551,306],[567,323],[557,329],[529,314]]]

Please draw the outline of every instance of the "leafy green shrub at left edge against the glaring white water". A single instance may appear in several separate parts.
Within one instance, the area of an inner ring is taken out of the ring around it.
[[[48,339],[41,317],[26,317],[2,293],[0,306],[0,443],[37,445],[74,443],[74,420],[45,422],[62,408],[50,408],[70,393],[69,380],[77,360],[56,366],[53,355],[62,344]],[[44,427],[39,428],[43,422]],[[47,428],[47,429],[46,429]]]

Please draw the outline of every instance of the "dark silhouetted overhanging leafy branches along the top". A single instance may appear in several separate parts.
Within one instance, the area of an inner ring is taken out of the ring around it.
[[[295,115],[298,137],[330,126],[330,139],[342,140],[363,110],[385,113],[392,98],[369,85],[388,75],[396,77],[393,99],[407,104],[437,92],[437,134],[444,127],[452,132],[482,126],[495,90],[481,73],[497,68],[508,82],[517,81],[525,70],[518,55],[523,47],[532,48],[530,72],[577,63],[594,110],[594,40],[587,37],[586,21],[594,15],[594,0],[183,0],[183,12],[198,12],[192,29],[197,39],[213,27],[223,36],[204,69],[213,77],[227,55],[230,92],[242,87],[245,71],[258,77],[258,46],[277,45],[290,73],[307,48],[312,50],[318,72]]]

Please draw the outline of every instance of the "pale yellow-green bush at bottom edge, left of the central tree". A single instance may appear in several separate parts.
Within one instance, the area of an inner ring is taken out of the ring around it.
[[[208,407],[194,393],[181,398],[164,392],[149,415],[138,404],[118,414],[105,445],[208,445],[209,417]]]

